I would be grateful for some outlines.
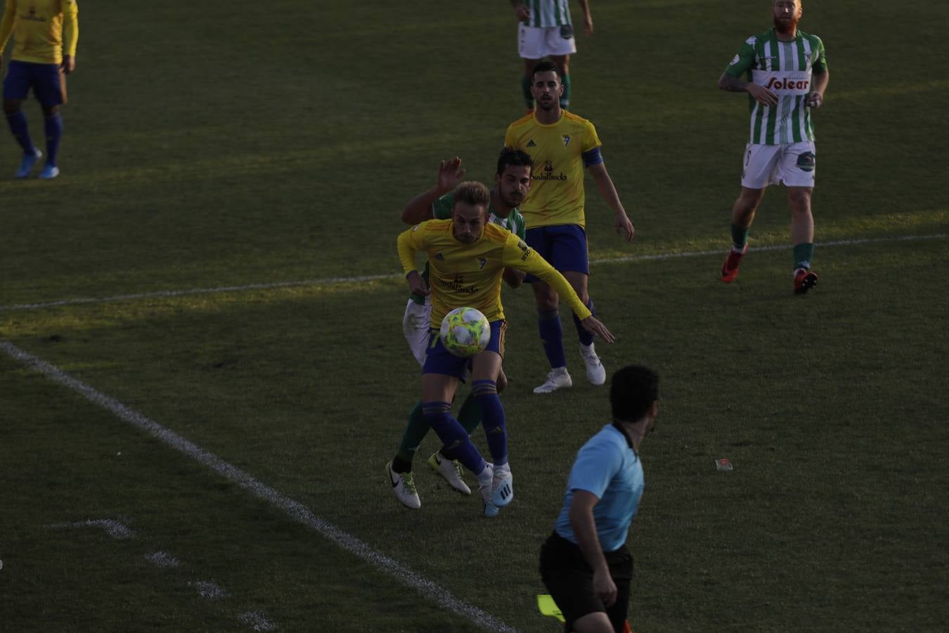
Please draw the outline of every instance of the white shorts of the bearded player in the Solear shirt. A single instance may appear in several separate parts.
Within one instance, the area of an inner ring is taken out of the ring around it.
[[[787,145],[745,145],[745,168],[741,186],[764,189],[784,183],[785,187],[813,187],[817,174],[814,141]]]

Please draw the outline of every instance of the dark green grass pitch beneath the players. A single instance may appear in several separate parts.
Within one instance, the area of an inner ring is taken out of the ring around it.
[[[558,630],[538,549],[608,402],[569,337],[575,386],[530,392],[530,289],[504,295],[512,506],[417,460],[410,512],[382,470],[419,390],[400,210],[439,159],[492,177],[512,12],[316,4],[83,5],[62,176],[0,179],[0,630]],[[804,297],[778,188],[716,279],[748,122],[716,80],[768,3],[592,3],[571,62],[637,228],[587,181],[598,351],[663,381],[638,633],[949,622],[949,8],[806,5],[831,81]]]

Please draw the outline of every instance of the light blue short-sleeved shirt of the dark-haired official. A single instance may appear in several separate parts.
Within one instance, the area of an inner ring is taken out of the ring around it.
[[[570,503],[573,491],[585,490],[600,498],[593,506],[600,547],[604,551],[620,549],[640,507],[643,486],[640,457],[623,432],[607,424],[577,452],[567,480],[564,506],[554,530],[571,543],[577,543],[570,527]]]

